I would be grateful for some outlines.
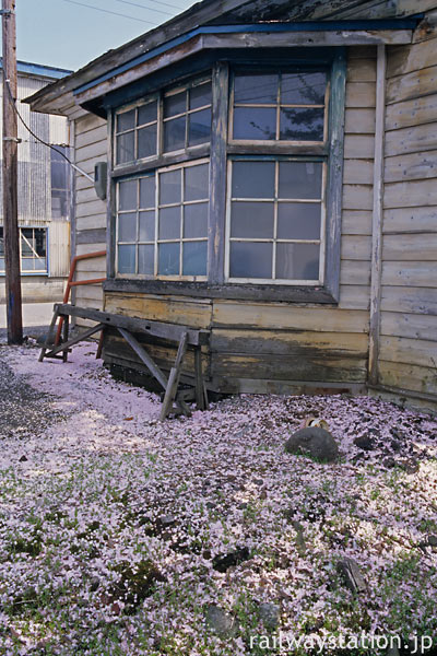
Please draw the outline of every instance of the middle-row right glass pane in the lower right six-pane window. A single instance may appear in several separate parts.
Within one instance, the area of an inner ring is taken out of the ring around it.
[[[318,202],[281,202],[279,239],[320,239],[321,206]]]

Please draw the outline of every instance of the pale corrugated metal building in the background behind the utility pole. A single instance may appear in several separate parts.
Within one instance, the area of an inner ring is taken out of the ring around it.
[[[56,147],[55,151],[38,142],[19,120],[19,226],[25,303],[62,298],[70,268],[70,175],[66,160],[59,154],[69,150],[68,120],[31,112],[22,101],[69,73],[71,71],[64,69],[17,62],[20,115],[34,134]],[[1,134],[0,121],[0,138]],[[1,184],[0,179],[0,188]],[[0,203],[0,303],[5,301],[2,213]]]

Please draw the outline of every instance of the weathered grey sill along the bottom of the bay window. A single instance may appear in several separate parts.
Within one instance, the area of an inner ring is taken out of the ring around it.
[[[226,298],[229,301],[270,301],[308,304],[338,304],[326,288],[297,288],[269,284],[209,284],[208,282],[174,282],[162,280],[108,279],[105,292],[133,294],[172,294],[196,298]]]

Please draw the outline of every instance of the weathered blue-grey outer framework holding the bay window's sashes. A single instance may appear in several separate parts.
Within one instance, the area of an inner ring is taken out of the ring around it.
[[[342,178],[343,178],[343,139],[344,139],[344,104],[345,104],[345,70],[346,56],[345,48],[336,47],[331,50],[332,60],[330,62],[330,96],[329,106],[326,113],[328,117],[328,132],[324,143],[315,142],[290,142],[276,141],[268,144],[274,150],[269,155],[277,157],[286,156],[298,157],[305,161],[305,157],[322,157],[327,161],[326,172],[326,248],[324,255],[324,276],[323,282],[307,284],[306,281],[292,281],[291,283],[274,282],[268,279],[265,282],[248,279],[228,281],[225,277],[225,230],[228,218],[226,216],[226,207],[228,199],[226,197],[227,167],[228,159],[233,156],[263,155],[265,143],[241,143],[240,140],[227,138],[231,120],[232,98],[231,98],[231,71],[232,63],[222,60],[213,66],[212,70],[212,133],[211,142],[205,145],[192,147],[189,152],[170,153],[170,156],[157,156],[154,162],[134,163],[131,165],[115,166],[109,181],[111,190],[110,202],[108,207],[108,219],[111,230],[108,235],[109,257],[108,257],[108,280],[105,283],[106,291],[132,291],[150,293],[174,293],[189,295],[194,297],[224,297],[241,300],[261,300],[261,301],[286,301],[305,304],[331,303],[339,301],[340,289],[340,227],[341,227],[341,201],[342,201]],[[302,50],[300,50],[302,55]],[[314,61],[312,68],[317,70],[317,63],[321,68],[327,68],[326,61]],[[324,65],[324,67],[323,67]],[[302,68],[302,59],[296,59],[296,67]],[[236,67],[237,68],[237,67]],[[272,70],[272,65],[267,68]],[[291,59],[283,65],[276,65],[276,69],[293,68],[293,54]],[[259,65],[258,71],[265,69]],[[265,69],[267,70],[267,69]],[[209,77],[205,75],[205,78]],[[184,86],[181,84],[180,86]],[[174,85],[176,89],[176,85]],[[108,121],[109,136],[113,136],[113,128],[116,112],[113,109]],[[111,139],[111,153],[114,152],[115,140]],[[120,277],[115,269],[115,195],[114,188],[117,179],[122,175],[137,176],[145,174],[146,171],[158,168],[165,165],[179,164],[182,162],[194,162],[198,159],[210,155],[210,187],[212,189],[210,202],[210,226],[209,226],[209,270],[208,280],[170,280],[167,277],[164,280],[156,278],[139,280],[138,277]]]

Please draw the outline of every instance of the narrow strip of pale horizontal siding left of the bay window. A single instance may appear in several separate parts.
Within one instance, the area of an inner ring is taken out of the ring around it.
[[[94,175],[94,165],[107,159],[106,121],[86,114],[74,120],[75,163],[90,175]],[[80,173],[75,174],[74,203],[74,253],[83,255],[106,249],[106,202],[99,200],[93,183]],[[104,257],[80,260],[75,280],[88,280],[106,277]],[[81,307],[103,308],[102,284],[81,285],[74,289],[74,302]],[[78,324],[86,321],[78,320]]]

